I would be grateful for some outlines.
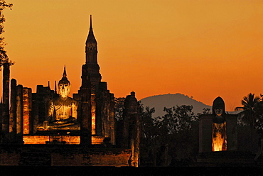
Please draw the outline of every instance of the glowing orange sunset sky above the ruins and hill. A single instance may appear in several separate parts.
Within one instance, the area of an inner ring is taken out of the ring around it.
[[[186,94],[226,109],[263,94],[263,1],[6,0],[11,78],[54,87],[66,65],[80,87],[92,14],[102,81],[115,97]],[[175,104],[176,105],[176,104]]]

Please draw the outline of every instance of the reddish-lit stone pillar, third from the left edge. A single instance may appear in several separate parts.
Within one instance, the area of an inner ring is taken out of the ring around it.
[[[23,86],[16,87],[16,140],[23,143]]]

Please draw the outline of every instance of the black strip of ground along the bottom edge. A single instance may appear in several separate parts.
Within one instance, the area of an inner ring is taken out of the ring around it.
[[[0,166],[0,175],[263,175],[263,167]]]

